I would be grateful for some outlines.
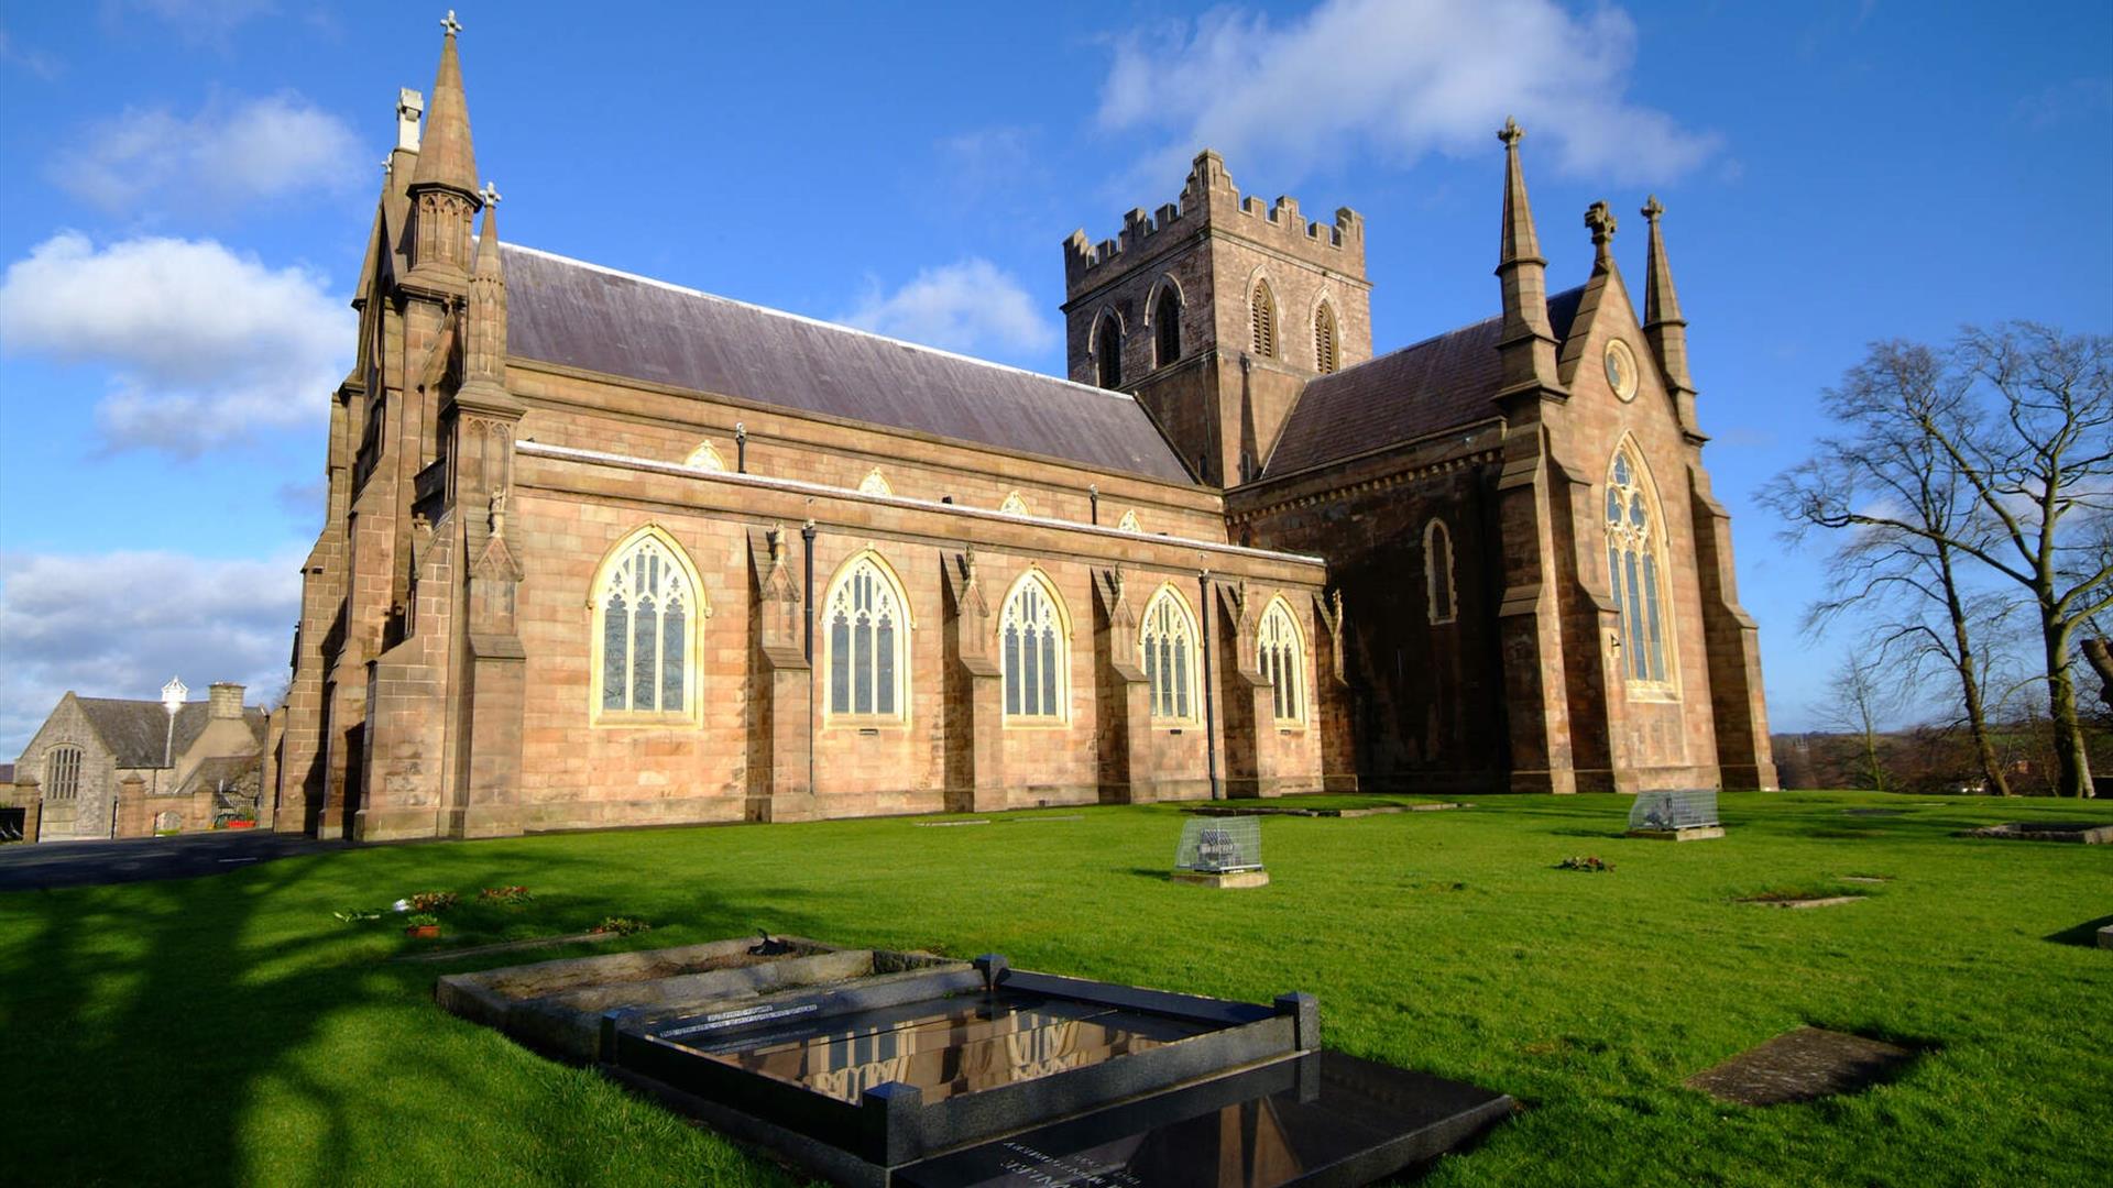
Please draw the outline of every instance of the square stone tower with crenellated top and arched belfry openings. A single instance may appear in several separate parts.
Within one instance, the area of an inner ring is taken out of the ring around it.
[[[1217,152],[1179,205],[1133,209],[1101,243],[1073,230],[1063,254],[1071,378],[1135,393],[1209,484],[1261,469],[1308,378],[1371,357],[1363,216],[1266,207]]]

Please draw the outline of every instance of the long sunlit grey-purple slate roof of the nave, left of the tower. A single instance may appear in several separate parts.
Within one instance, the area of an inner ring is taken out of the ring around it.
[[[1194,484],[1128,395],[501,247],[513,357]]]

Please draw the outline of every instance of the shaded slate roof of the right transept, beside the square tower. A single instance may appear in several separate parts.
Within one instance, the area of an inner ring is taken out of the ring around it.
[[[1549,298],[1557,351],[1570,336],[1583,296],[1585,285],[1578,285]],[[1502,330],[1504,317],[1498,315],[1314,376],[1291,408],[1264,476],[1335,463],[1496,416],[1490,400],[1504,378],[1496,355]]]

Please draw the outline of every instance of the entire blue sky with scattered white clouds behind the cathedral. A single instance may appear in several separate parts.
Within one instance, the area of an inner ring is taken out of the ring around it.
[[[1517,114],[1551,285],[1648,192],[1775,725],[1836,641],[1754,495],[1874,338],[2113,330],[2113,6],[486,4],[518,243],[1061,372],[1059,243],[1188,159],[1365,214],[1380,351],[1496,311]],[[397,87],[442,8],[0,11],[0,755],[59,691],[277,687]]]

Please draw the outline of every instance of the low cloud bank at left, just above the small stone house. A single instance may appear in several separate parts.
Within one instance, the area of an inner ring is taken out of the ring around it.
[[[169,552],[0,554],[0,761],[13,761],[68,689],[158,698],[285,685],[300,617],[300,558],[207,560]]]

